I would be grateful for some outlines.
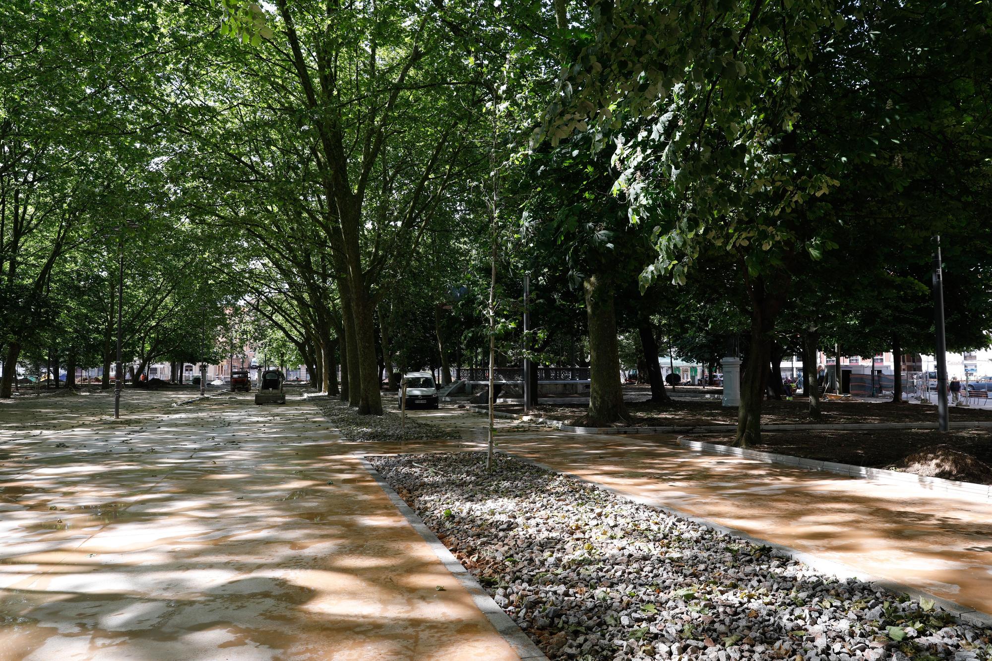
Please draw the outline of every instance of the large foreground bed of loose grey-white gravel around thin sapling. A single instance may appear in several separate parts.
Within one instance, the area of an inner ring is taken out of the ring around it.
[[[553,659],[992,659],[992,630],[499,455],[369,461]]]

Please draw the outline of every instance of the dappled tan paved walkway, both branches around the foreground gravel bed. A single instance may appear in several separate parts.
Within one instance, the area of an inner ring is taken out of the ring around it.
[[[105,395],[0,404],[0,659],[516,658],[355,455],[476,450],[482,416],[413,413],[463,441],[357,444],[299,399],[179,396],[129,392],[122,424]],[[498,426],[504,451],[992,611],[992,505]]]

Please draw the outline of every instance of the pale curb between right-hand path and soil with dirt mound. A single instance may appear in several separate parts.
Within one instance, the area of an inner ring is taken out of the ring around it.
[[[899,486],[914,486],[925,489],[938,495],[946,495],[952,498],[965,498],[974,502],[975,500],[992,502],[992,484],[975,484],[974,482],[959,482],[953,479],[943,479],[941,477],[926,477],[916,475],[912,472],[900,472],[899,470],[889,470],[887,468],[869,468],[863,465],[853,465],[851,463],[819,462],[808,460],[803,457],[792,457],[790,455],[777,455],[773,453],[763,453],[757,450],[746,450],[744,448],[731,448],[714,443],[704,443],[681,437],[679,443],[695,452],[714,453],[717,455],[730,455],[742,459],[754,460],[764,463],[781,463],[810,470],[825,470],[835,472],[849,477],[860,477],[871,479],[886,484],[896,484]]]

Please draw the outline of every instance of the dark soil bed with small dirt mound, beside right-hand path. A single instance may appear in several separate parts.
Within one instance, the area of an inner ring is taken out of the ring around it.
[[[916,408],[916,407],[913,407]],[[733,437],[710,443],[733,443]],[[919,475],[992,484],[992,433],[959,430],[879,432],[768,432],[752,450],[824,462],[895,468]]]

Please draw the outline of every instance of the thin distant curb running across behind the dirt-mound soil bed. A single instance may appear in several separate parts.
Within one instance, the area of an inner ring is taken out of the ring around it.
[[[466,406],[469,411],[488,415],[484,406]],[[520,413],[494,411],[496,418],[535,422],[555,427],[569,434],[729,434],[737,430],[737,423],[726,425],[701,425],[699,427],[574,427],[560,420],[526,416]],[[992,422],[950,423],[953,429],[992,429]],[[936,429],[936,423],[844,423],[838,425],[762,425],[762,432],[874,432],[885,429]]]

